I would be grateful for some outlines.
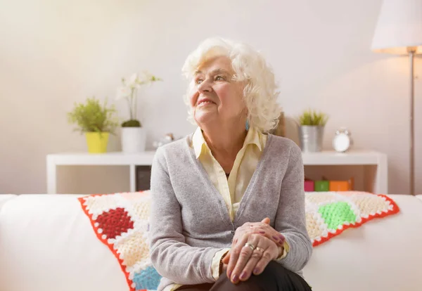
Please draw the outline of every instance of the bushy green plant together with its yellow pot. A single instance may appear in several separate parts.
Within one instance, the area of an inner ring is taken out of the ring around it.
[[[68,112],[68,122],[76,124],[75,131],[80,131],[87,139],[89,153],[106,153],[108,137],[115,134],[119,123],[115,119],[113,105],[107,101],[100,103],[95,97],[87,98],[86,103],[75,103],[72,111]]]

